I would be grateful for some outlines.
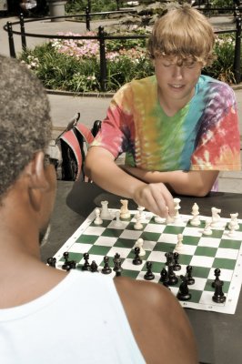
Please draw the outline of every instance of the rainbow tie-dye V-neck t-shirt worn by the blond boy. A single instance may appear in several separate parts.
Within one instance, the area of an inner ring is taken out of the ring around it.
[[[134,80],[113,97],[92,146],[146,170],[239,170],[240,140],[232,88],[200,76],[195,95],[175,116],[157,98],[156,77]]]

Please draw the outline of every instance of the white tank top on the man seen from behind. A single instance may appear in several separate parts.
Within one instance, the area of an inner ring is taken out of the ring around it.
[[[72,270],[40,298],[0,309],[3,364],[141,364],[112,278]]]

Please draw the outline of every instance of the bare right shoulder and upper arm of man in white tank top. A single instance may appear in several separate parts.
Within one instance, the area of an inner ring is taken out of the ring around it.
[[[187,315],[169,289],[125,277],[115,279],[139,349],[147,363],[197,363],[197,347]]]

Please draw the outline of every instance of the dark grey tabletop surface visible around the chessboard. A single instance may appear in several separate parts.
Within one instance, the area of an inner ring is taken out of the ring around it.
[[[109,207],[120,208],[120,198],[109,194],[93,183],[58,181],[55,210],[51,219],[51,233],[42,248],[42,259],[55,255],[68,238],[76,231],[101,201],[108,200]],[[179,197],[183,214],[190,214],[191,206],[197,202],[203,215],[211,216],[211,207],[221,208],[221,217],[238,212],[242,217],[242,195],[213,192],[209,197]],[[129,201],[128,207],[136,209],[136,204]],[[222,267],[219,267],[222,268]],[[200,363],[237,364],[242,358],[242,293],[237,302],[234,315],[185,308],[194,329]]]

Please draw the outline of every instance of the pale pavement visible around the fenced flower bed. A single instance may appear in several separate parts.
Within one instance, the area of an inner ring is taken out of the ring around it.
[[[37,20],[37,19],[36,19]],[[234,27],[233,18],[217,17],[210,18],[211,23],[218,30],[222,28],[231,29]],[[9,56],[8,35],[3,29],[7,22],[14,23],[18,21],[16,16],[0,17],[0,54]],[[113,21],[111,21],[113,22]],[[109,21],[110,24],[110,21]],[[92,22],[91,29],[96,30],[99,25],[106,25],[106,21]],[[13,25],[13,29],[19,31],[19,25]],[[86,31],[86,24],[74,21],[51,21],[49,19],[37,20],[33,23],[25,24],[25,32],[32,34],[55,35],[58,32],[73,32],[82,34]],[[16,55],[21,52],[21,37],[14,35]],[[34,47],[38,44],[48,41],[44,38],[27,37],[28,47]],[[237,108],[240,127],[240,138],[242,140],[242,85],[234,87],[237,97]],[[80,121],[86,126],[91,127],[96,119],[103,119],[106,116],[106,108],[109,105],[111,96],[73,96],[71,94],[48,93],[51,106],[51,116],[54,125],[54,136],[58,135],[68,124],[68,121],[76,115],[81,114]],[[218,189],[221,192],[242,193],[242,172],[220,172],[218,180]]]

